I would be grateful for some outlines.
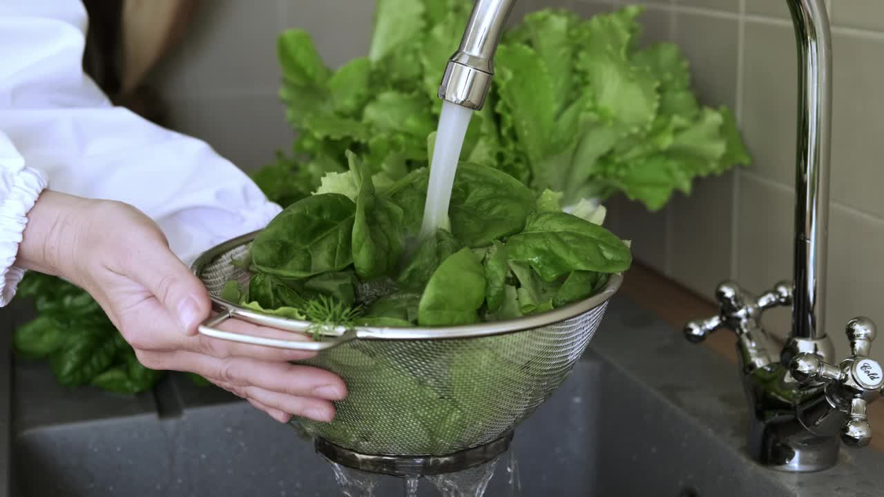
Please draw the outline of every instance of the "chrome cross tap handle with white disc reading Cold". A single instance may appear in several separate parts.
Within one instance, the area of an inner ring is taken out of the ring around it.
[[[834,366],[807,352],[792,359],[792,378],[803,384],[827,384],[832,405],[847,414],[841,426],[841,440],[850,447],[865,447],[872,440],[872,427],[865,417],[868,401],[884,393],[884,371],[869,357],[872,341],[878,334],[868,317],[854,317],[846,327],[850,357]]]

